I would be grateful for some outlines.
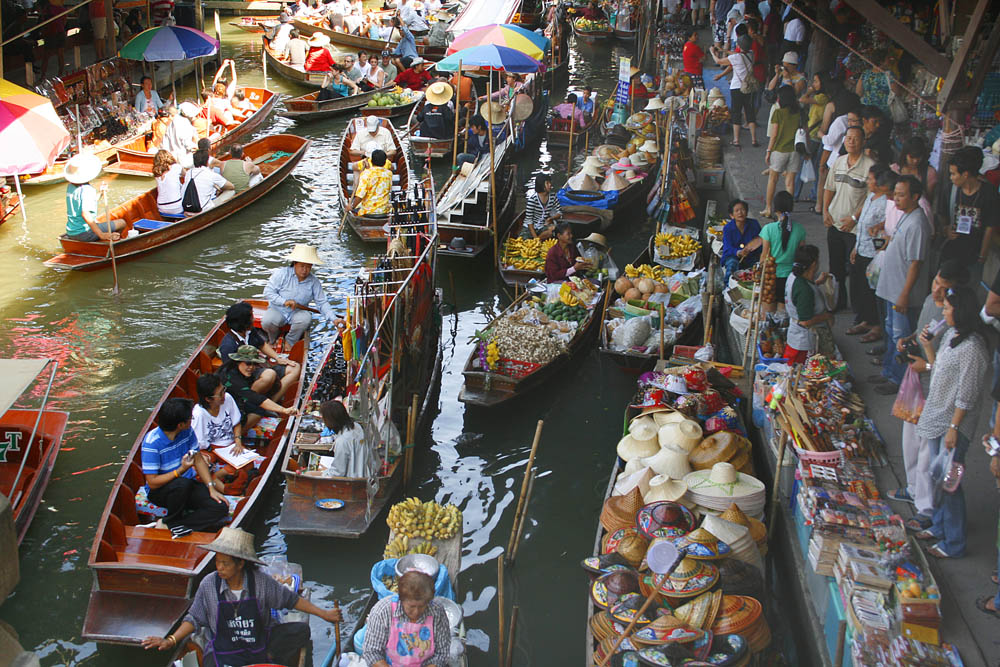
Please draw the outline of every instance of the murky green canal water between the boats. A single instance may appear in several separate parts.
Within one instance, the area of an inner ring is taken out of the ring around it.
[[[223,54],[247,85],[263,82],[259,37],[223,23]],[[570,88],[591,85],[602,100],[615,86],[619,46],[571,47]],[[287,95],[305,90],[270,76]],[[186,92],[191,92],[188,84]],[[555,91],[555,98],[564,91]],[[319,247],[326,265],[316,273],[335,304],[343,303],[357,267],[378,251],[349,229],[338,234],[334,156],[345,119],[296,126],[273,116],[259,134],[294,133],[312,140],[294,174],[239,214],[165,250],[111,273],[61,273],[42,262],[59,251],[65,223],[64,187],[28,188],[28,222],[0,228],[0,356],[50,357],[60,369],[50,407],[70,424],[55,472],[21,546],[21,583],[0,607],[0,619],[35,650],[43,665],[162,665],[163,654],[97,645],[80,638],[92,576],[87,557],[110,484],[149,411],[193,347],[238,299],[262,293],[270,272],[299,242]],[[582,158],[574,156],[580,164]],[[518,156],[527,183],[537,170],[566,178],[564,149],[537,148]],[[447,175],[435,169],[436,182]],[[112,206],[150,187],[127,176],[104,177]],[[645,245],[651,223],[635,215],[607,234],[619,264]],[[586,623],[586,575],[622,416],[635,378],[600,361],[596,350],[529,398],[492,411],[457,400],[470,338],[509,302],[487,258],[443,259],[439,286],[445,307],[444,369],[439,411],[419,450],[408,495],[455,503],[464,513],[459,602],[465,611],[470,664],[495,664],[497,567],[513,523],[522,473],[538,420],[544,420],[537,481],[516,564],[508,569],[506,604],[520,607],[514,664],[581,664]],[[452,291],[452,284],[454,291]],[[452,307],[450,304],[454,304]],[[329,338],[314,329],[315,362]],[[371,565],[381,559],[388,529],[377,522],[360,540],[284,536],[277,528],[280,483],[266,494],[250,526],[264,555],[300,563],[320,605],[339,601],[353,627],[370,592]],[[332,626],[312,619],[314,664],[331,645]]]

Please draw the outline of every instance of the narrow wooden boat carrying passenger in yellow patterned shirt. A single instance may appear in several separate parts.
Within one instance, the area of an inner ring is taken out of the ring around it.
[[[406,151],[403,150],[403,143],[399,140],[396,128],[392,126],[392,123],[388,119],[382,119],[379,122],[381,127],[388,129],[392,134],[392,142],[396,146],[395,158],[386,163],[386,166],[392,168],[393,192],[406,192],[410,184],[414,182],[414,179],[413,172],[410,170],[410,163],[406,159]],[[361,237],[362,241],[384,243],[388,238],[385,231],[385,225],[389,219],[388,215],[361,216],[352,211],[347,211],[346,208],[349,201],[348,198],[354,196],[355,179],[358,176],[351,167],[351,164],[358,162],[364,157],[364,154],[351,150],[351,142],[354,141],[354,137],[357,136],[358,132],[364,131],[364,123],[364,118],[355,118],[348,123],[344,134],[340,138],[340,150],[337,152],[336,164],[336,169],[340,173],[340,188],[338,189],[340,210],[343,212],[342,215],[347,219],[347,223],[351,226],[351,229]]]

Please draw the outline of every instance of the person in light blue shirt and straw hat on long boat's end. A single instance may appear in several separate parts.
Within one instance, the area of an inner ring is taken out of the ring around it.
[[[312,322],[312,314],[307,310],[310,303],[315,303],[331,324],[340,326],[343,325],[343,320],[333,312],[333,306],[327,300],[319,278],[312,275],[314,265],[323,265],[316,248],[296,243],[285,259],[290,262],[289,265],[275,269],[264,287],[268,308],[261,317],[260,325],[267,333],[268,343],[271,345],[278,340],[281,327],[289,325],[284,349],[290,350]]]

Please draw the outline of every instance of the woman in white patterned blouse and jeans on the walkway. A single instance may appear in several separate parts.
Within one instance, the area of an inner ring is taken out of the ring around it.
[[[979,303],[971,289],[947,290],[942,314],[943,324],[932,322],[918,337],[926,361],[911,357],[914,370],[931,373],[917,435],[927,439],[927,446],[921,452],[922,457],[928,457],[926,460],[934,462],[943,453],[942,447],[953,450],[954,456],[950,470],[944,471],[931,526],[917,533],[917,537],[936,541],[927,549],[932,556],[959,558],[965,555],[966,538],[960,466],[964,466],[969,439],[978,422],[979,399],[986,387],[991,354],[979,319]],[[945,325],[949,328],[941,335],[935,352],[934,338]]]

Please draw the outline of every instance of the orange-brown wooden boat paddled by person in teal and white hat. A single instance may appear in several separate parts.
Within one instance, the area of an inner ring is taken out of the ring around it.
[[[243,153],[260,167],[263,180],[214,208],[190,218],[176,222],[164,220],[157,210],[156,188],[116,206],[111,210],[111,218],[125,220],[123,236],[132,230],[138,232],[137,235],[115,242],[116,261],[121,263],[141,257],[211,227],[242,210],[285,180],[305,155],[309,143],[308,139],[291,134],[272,134],[250,142],[244,146]],[[100,217],[104,219],[103,216]],[[46,266],[75,271],[92,271],[111,266],[110,248],[106,242],[74,241],[65,235],[59,237],[59,242],[63,253],[46,261]]]

